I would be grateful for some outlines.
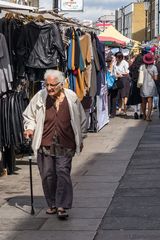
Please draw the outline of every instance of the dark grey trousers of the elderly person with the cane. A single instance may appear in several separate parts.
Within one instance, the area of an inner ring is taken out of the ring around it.
[[[73,188],[70,177],[72,157],[52,157],[38,152],[44,195],[49,207],[72,207]]]

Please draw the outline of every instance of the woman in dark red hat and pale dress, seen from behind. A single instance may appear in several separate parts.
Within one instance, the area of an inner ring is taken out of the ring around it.
[[[158,71],[157,67],[154,65],[154,56],[152,53],[145,54],[143,56],[143,62],[143,85],[140,88],[140,95],[142,97],[143,119],[151,121],[153,97],[157,95],[155,81],[157,80]],[[147,103],[148,112],[146,112]]]

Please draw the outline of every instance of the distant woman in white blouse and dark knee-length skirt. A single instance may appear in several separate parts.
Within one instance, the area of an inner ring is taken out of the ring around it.
[[[123,114],[126,115],[127,112],[127,101],[130,91],[130,81],[129,81],[129,64],[123,59],[123,54],[117,52],[115,54],[116,62],[114,64],[114,72],[117,77],[117,88],[118,88],[118,100],[119,100],[119,110],[118,113],[122,114],[122,105],[124,107]]]

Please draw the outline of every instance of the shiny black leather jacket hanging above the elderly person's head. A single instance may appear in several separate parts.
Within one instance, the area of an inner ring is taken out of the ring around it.
[[[53,68],[65,66],[65,51],[60,30],[55,23],[24,26],[17,44],[17,54],[27,67]]]

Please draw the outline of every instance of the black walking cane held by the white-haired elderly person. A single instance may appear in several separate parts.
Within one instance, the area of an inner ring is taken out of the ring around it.
[[[29,144],[29,175],[30,175],[30,191],[31,191],[31,215],[35,214],[33,207],[33,181],[32,181],[32,153],[31,153],[31,143],[32,140],[28,139]]]

